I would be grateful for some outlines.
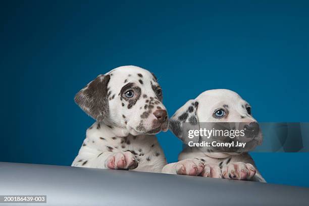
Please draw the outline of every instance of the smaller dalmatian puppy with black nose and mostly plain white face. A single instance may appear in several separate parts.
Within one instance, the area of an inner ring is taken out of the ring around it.
[[[179,162],[166,165],[162,172],[266,182],[248,154],[249,150],[262,143],[262,132],[251,115],[248,102],[237,93],[227,89],[204,91],[176,111],[170,118],[170,130],[188,144],[191,139],[184,135],[186,132],[184,125],[198,130],[201,124],[234,125],[234,123],[238,123],[244,129],[244,137],[237,141],[246,142],[245,148],[215,148],[211,145],[205,149],[205,147],[186,146],[178,156]],[[195,142],[204,139],[199,134],[197,138]],[[222,140],[232,142],[236,141],[236,138],[228,137]]]

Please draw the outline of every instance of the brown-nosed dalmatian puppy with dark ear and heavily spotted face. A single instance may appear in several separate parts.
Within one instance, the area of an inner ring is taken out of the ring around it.
[[[167,164],[155,134],[169,120],[155,75],[122,66],[98,75],[75,96],[96,120],[72,163],[75,167],[161,172]]]

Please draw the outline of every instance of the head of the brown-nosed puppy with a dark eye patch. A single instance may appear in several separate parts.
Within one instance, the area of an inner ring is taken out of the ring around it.
[[[167,131],[169,120],[162,99],[157,78],[136,66],[99,75],[75,96],[89,116],[132,135]]]

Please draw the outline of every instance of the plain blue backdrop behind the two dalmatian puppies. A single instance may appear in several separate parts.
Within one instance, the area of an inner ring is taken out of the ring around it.
[[[93,120],[75,93],[122,65],[154,72],[172,115],[228,88],[260,122],[309,117],[306,1],[2,2],[0,161],[70,165]],[[169,162],[181,142],[160,133]],[[308,153],[253,153],[270,183],[309,186]]]

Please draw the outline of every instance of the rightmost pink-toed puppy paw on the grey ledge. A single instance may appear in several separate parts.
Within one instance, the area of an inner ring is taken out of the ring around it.
[[[234,180],[250,180],[255,175],[255,172],[256,169],[251,164],[230,163],[222,168],[222,177]]]

